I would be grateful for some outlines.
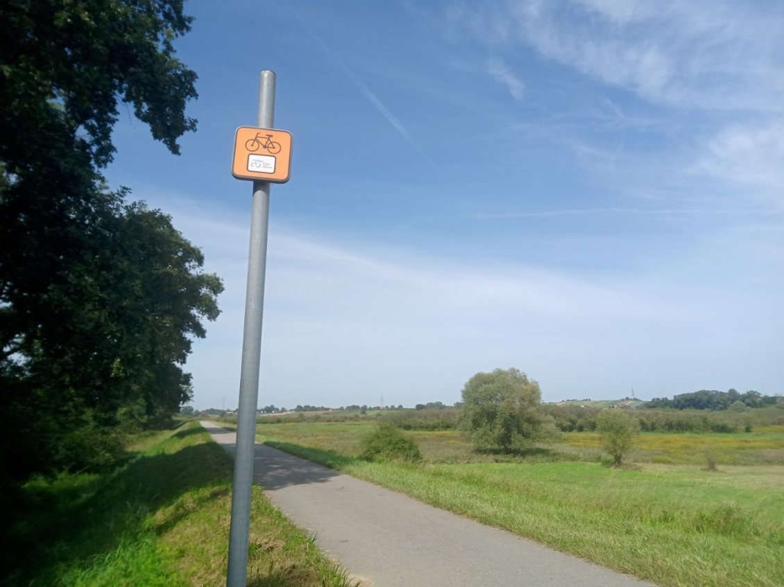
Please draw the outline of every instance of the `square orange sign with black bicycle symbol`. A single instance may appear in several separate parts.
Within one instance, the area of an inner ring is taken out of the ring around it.
[[[292,135],[273,128],[241,126],[234,135],[231,175],[238,179],[285,183],[289,181]]]

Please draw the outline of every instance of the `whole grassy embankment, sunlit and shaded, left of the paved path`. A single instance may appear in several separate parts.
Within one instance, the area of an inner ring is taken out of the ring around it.
[[[196,422],[137,438],[111,474],[24,488],[5,585],[222,585],[233,464]],[[248,585],[347,587],[346,575],[253,489]],[[9,542],[6,542],[9,543]]]

